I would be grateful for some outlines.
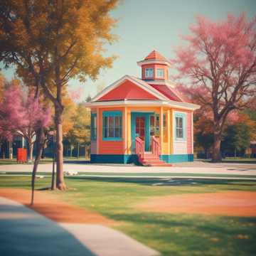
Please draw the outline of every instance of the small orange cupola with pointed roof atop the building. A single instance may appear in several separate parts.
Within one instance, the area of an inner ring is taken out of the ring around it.
[[[168,68],[171,66],[169,60],[164,58],[156,50],[140,60],[137,64],[142,67],[142,80],[148,81],[167,81],[169,80]]]

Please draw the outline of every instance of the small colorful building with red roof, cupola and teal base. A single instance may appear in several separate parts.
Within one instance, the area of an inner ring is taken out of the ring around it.
[[[193,111],[169,81],[169,60],[153,50],[96,95],[91,109],[92,163],[166,165],[193,161]]]

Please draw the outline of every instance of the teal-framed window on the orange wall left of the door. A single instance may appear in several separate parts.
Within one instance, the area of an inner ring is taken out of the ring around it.
[[[119,117],[119,124],[116,125],[117,117]],[[110,118],[113,120],[113,124],[110,127]],[[108,120],[108,121],[107,121]],[[107,121],[107,124],[106,124]],[[112,129],[112,137],[105,136],[105,129]],[[116,134],[118,129],[119,136]],[[103,111],[102,112],[102,140],[103,141],[121,141],[122,140],[122,111]]]

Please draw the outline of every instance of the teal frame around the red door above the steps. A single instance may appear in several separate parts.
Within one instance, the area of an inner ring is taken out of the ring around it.
[[[145,118],[145,151],[150,149],[150,116],[154,112],[132,112],[131,113],[131,135],[132,135],[132,151],[135,149],[135,137],[136,137],[136,117]]]

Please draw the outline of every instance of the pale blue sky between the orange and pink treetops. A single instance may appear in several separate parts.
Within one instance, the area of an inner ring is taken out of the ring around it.
[[[97,85],[107,86],[123,75],[140,77],[137,61],[151,50],[157,50],[166,58],[174,57],[174,49],[182,43],[180,36],[189,33],[188,27],[200,14],[218,21],[228,13],[239,15],[245,11],[249,18],[256,16],[256,0],[121,0],[112,16],[119,22],[113,33],[119,36],[117,43],[107,46],[107,55],[117,55],[113,67],[102,70],[97,81],[85,83],[70,81],[73,89],[83,87],[81,100],[94,96]],[[14,70],[2,70],[10,80]]]

